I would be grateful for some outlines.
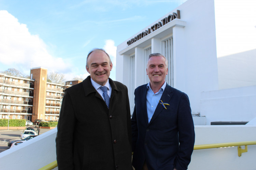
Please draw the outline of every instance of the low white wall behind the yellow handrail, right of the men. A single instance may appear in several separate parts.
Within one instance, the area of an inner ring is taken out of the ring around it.
[[[198,125],[195,133],[195,145],[256,141],[256,124]],[[194,150],[188,170],[255,170],[255,157],[256,145],[248,145],[241,157],[237,147]]]

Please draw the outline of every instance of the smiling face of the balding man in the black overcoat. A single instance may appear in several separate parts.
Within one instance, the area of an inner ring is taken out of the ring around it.
[[[104,86],[108,81],[110,71],[112,70],[108,55],[103,51],[94,51],[88,57],[88,67],[86,70],[91,75],[91,79]]]

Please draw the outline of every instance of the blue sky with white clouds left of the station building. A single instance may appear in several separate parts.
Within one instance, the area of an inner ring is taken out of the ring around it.
[[[44,67],[86,78],[86,56],[116,46],[186,0],[0,0],[0,71]]]

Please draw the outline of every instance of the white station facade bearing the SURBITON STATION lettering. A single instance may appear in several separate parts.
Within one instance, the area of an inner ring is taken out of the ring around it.
[[[181,19],[174,19],[127,47],[128,40],[151,28],[153,24],[176,10],[180,10]],[[168,28],[173,23],[178,24]],[[161,53],[161,41],[171,36],[173,36],[174,87],[189,96],[192,112],[200,112],[200,93],[218,89],[214,0],[188,0],[118,45],[116,80],[123,82],[129,89],[130,84],[125,80],[127,72],[124,70],[128,70],[128,66],[124,63],[124,57],[134,54],[136,47],[144,49],[152,46],[152,53]],[[135,53],[135,57],[143,56]],[[143,65],[140,63],[143,60],[135,59],[135,61],[137,62],[135,69],[141,69],[138,67]],[[140,84],[139,80],[142,80],[145,73],[146,70],[137,71],[135,88],[144,84]]]

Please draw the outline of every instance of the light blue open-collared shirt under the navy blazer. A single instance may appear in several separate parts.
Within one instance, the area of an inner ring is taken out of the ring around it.
[[[166,82],[162,85],[160,90],[154,94],[153,90],[150,87],[150,83],[147,84],[147,118],[148,123],[150,122],[155,110],[156,106],[159,103],[159,100],[161,99],[161,96],[163,94],[163,90],[165,90]]]

